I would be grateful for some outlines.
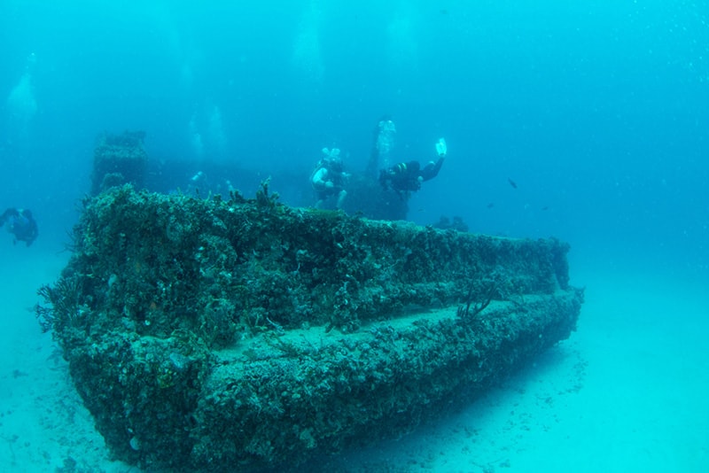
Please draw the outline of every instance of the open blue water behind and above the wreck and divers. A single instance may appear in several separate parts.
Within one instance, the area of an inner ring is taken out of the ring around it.
[[[321,148],[363,170],[390,114],[394,159],[448,142],[410,220],[557,236],[573,283],[709,288],[705,1],[3,0],[0,67],[0,206],[40,227],[18,261],[63,248],[102,132],[144,130],[166,189],[227,167],[311,205]]]

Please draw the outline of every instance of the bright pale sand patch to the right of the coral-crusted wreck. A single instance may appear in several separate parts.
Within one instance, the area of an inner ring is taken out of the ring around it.
[[[598,276],[586,279],[570,340],[460,415],[355,461],[410,472],[709,471],[700,288]]]

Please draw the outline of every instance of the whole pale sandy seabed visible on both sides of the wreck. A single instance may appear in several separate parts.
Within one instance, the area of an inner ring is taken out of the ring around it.
[[[0,259],[0,471],[138,472],[110,458],[32,312],[68,254],[4,244]],[[587,290],[569,340],[455,415],[323,471],[709,471],[705,288],[594,269],[571,268]]]

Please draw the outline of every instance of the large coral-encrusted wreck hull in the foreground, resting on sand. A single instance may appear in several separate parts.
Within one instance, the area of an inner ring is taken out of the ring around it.
[[[285,469],[398,436],[575,329],[568,246],[114,187],[40,293],[113,454]]]

